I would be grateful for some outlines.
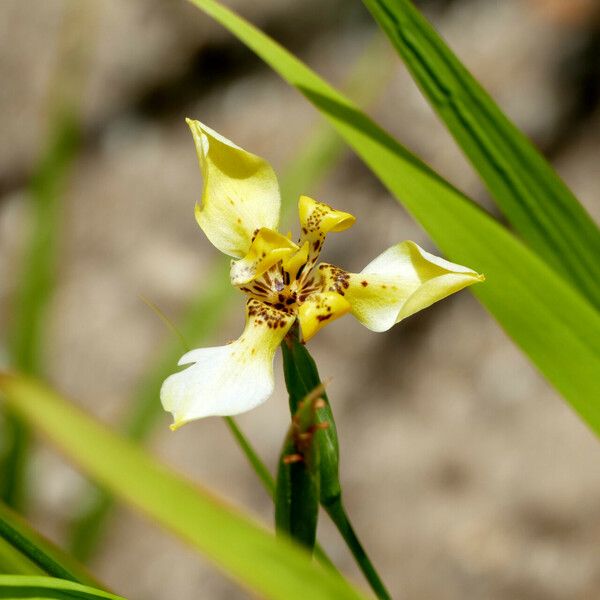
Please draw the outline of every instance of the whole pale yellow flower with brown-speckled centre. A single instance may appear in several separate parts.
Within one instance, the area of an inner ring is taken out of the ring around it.
[[[208,239],[233,257],[231,283],[248,299],[237,340],[188,352],[179,364],[190,366],[163,383],[160,396],[173,414],[172,429],[264,402],[273,391],[275,351],[296,321],[304,341],[346,313],[372,331],[386,331],[483,280],[410,241],[392,246],[360,273],[317,264],[326,235],[348,229],[355,218],[301,196],[301,234],[293,242],[277,231],[280,197],[271,165],[199,121],[187,123],[204,180],[196,220]]]

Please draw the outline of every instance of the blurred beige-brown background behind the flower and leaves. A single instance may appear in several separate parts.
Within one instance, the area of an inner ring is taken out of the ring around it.
[[[599,219],[597,0],[418,4]],[[489,207],[360,2],[228,5],[349,85],[380,123]],[[183,1],[2,0],[0,32],[0,362],[15,362],[8,340],[36,210],[31,195],[49,148],[68,131],[68,114],[77,133],[59,161],[66,166],[55,211],[42,219],[42,235],[58,233],[58,258],[33,370],[122,428],[143,395],[140,381],[177,343],[142,297],[178,322],[212,289],[220,258],[193,218],[201,178],[184,118],[267,158],[282,177],[327,130],[297,92]],[[328,261],[360,270],[403,239],[435,251],[360,161],[329,143],[309,189],[284,187],[294,197],[284,198],[291,209],[282,229],[297,233],[296,193],[306,192],[357,216],[352,230],[328,238]],[[230,304],[207,325],[204,345],[238,336],[243,298]],[[331,380],[350,515],[395,597],[600,596],[600,444],[468,292],[384,334],[347,317],[325,328],[311,351]],[[144,385],[156,409],[156,383]],[[220,419],[172,433],[166,414],[150,412],[147,442],[157,455],[271,522],[271,502]],[[239,418],[270,467],[288,418],[279,376],[275,395]],[[67,543],[73,516],[91,502],[85,480],[39,444],[27,483],[28,515]],[[320,537],[363,585],[326,518]],[[246,597],[123,507],[90,560],[132,600]]]

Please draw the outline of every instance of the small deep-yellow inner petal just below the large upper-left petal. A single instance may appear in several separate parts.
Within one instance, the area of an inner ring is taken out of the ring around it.
[[[231,263],[232,285],[244,285],[298,250],[298,246],[277,231],[263,227],[252,241],[248,254]]]

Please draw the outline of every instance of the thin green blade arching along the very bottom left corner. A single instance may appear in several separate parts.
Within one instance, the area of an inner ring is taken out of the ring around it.
[[[124,600],[87,585],[53,577],[0,575],[0,598],[16,600]]]

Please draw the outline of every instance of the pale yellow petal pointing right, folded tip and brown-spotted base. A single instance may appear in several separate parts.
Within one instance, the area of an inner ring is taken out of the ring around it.
[[[372,331],[395,323],[434,302],[483,281],[483,275],[426,252],[414,242],[392,246],[361,273],[320,265],[325,289],[344,294],[352,314]]]

